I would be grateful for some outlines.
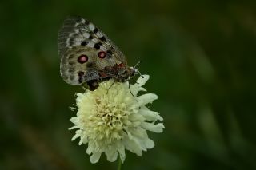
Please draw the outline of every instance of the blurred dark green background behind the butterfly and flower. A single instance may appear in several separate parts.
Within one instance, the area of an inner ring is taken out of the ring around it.
[[[255,1],[1,1],[0,169],[115,169],[71,142],[81,87],[59,74],[67,15],[94,22],[150,74],[164,117],[155,147],[122,169],[256,169]]]

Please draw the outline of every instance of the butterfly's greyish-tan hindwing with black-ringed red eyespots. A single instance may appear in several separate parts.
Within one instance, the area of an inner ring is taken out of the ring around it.
[[[98,59],[95,53],[102,51],[90,47],[74,46],[68,49],[61,58],[61,75],[70,85],[81,85],[83,82],[100,79],[99,71],[114,62],[106,53],[105,59]],[[103,53],[103,52],[102,52]]]

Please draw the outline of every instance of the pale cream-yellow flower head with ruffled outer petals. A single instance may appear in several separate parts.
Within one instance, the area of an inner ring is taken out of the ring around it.
[[[157,95],[138,96],[139,91],[146,91],[142,85],[148,79],[148,75],[139,77],[130,87],[127,81],[103,81],[98,89],[77,94],[78,112],[70,120],[74,123],[70,129],[78,129],[72,140],[80,138],[79,145],[88,144],[91,163],[97,163],[102,152],[111,162],[119,155],[123,163],[125,149],[142,156],[142,151],[154,147],[146,131],[162,132],[164,125],[156,123],[163,120],[159,113],[146,107]]]

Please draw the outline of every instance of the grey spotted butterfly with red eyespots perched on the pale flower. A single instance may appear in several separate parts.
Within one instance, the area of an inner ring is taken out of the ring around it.
[[[97,89],[100,81],[128,81],[138,69],[127,66],[126,57],[110,38],[88,20],[70,16],[58,31],[60,73],[70,85],[86,83]]]

